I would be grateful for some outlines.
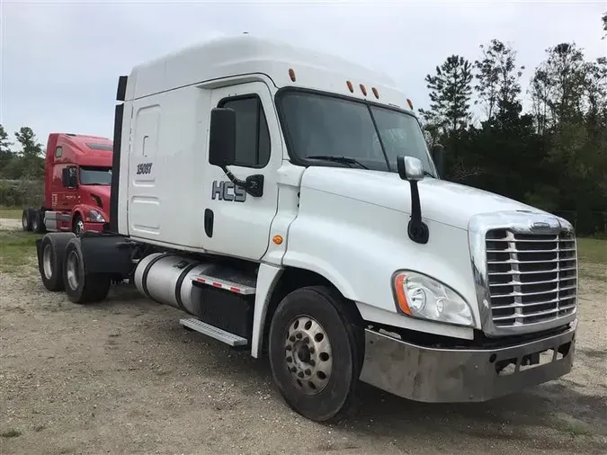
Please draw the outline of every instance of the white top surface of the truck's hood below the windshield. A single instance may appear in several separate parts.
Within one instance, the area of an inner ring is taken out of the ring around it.
[[[411,213],[410,184],[396,173],[311,166],[303,174],[301,187]],[[478,213],[528,210],[546,214],[492,192],[432,177],[424,178],[418,187],[422,217],[455,228],[468,229],[470,218]]]

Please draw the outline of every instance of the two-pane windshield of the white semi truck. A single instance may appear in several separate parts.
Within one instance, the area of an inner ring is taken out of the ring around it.
[[[436,174],[413,115],[325,94],[292,91],[279,98],[291,153],[299,158],[340,156],[397,172],[397,156],[415,156],[424,171]]]

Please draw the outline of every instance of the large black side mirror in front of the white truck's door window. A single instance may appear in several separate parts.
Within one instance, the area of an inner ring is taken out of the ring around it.
[[[236,112],[213,108],[210,111],[209,163],[219,167],[236,161]]]

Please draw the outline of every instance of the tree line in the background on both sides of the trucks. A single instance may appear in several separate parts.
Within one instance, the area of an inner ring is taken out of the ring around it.
[[[607,12],[601,21],[607,45]],[[431,103],[420,118],[429,145],[447,149],[445,178],[558,212],[580,234],[604,234],[607,58],[587,60],[575,42],[546,49],[526,110],[523,71],[516,50],[494,39],[476,58],[451,55],[425,77]],[[19,152],[0,125],[0,178],[43,178],[44,150],[33,130],[22,127],[14,138]]]

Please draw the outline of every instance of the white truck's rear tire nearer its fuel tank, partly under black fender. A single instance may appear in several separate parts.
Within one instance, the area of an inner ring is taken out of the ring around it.
[[[105,273],[85,274],[85,258],[80,239],[72,238],[66,245],[63,264],[63,281],[67,298],[78,304],[98,302],[108,295],[111,275]]]

